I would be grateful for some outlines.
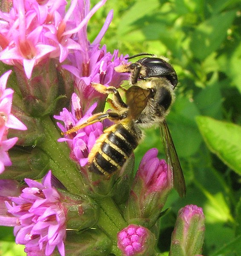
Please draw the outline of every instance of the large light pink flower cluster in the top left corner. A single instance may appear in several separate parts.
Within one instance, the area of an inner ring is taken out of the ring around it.
[[[0,12],[0,60],[9,65],[23,66],[26,77],[31,78],[34,65],[44,58],[59,58],[63,62],[69,50],[85,50],[74,38],[86,26],[92,15],[106,2],[100,1],[92,10],[89,2],[72,0],[66,14],[66,1],[14,0],[9,13]],[[88,10],[84,7],[88,6]],[[77,9],[87,12],[78,19]]]

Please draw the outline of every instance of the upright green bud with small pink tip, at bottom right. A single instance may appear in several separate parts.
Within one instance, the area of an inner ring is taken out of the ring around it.
[[[172,232],[169,256],[193,256],[202,253],[205,231],[203,210],[187,205],[178,212]]]

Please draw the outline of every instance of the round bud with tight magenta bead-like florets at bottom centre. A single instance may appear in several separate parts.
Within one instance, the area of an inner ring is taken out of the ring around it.
[[[117,245],[125,256],[154,255],[155,236],[145,227],[131,224],[117,234]]]

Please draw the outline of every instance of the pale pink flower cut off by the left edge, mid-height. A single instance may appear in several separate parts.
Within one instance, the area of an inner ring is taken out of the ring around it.
[[[17,137],[7,138],[8,129],[26,130],[27,127],[11,114],[11,105],[14,91],[6,88],[6,83],[11,71],[0,77],[0,173],[5,166],[11,165],[8,150],[17,142]]]

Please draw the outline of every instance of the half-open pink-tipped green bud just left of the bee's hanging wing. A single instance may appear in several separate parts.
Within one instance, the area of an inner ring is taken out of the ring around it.
[[[129,223],[152,227],[172,189],[171,170],[157,155],[158,150],[152,148],[141,160],[124,212]]]

